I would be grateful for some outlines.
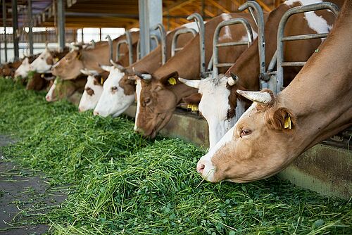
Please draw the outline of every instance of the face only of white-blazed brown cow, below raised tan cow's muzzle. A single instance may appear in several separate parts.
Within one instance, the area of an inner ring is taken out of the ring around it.
[[[75,82],[56,78],[45,96],[46,101],[54,102],[72,96],[77,90]]]

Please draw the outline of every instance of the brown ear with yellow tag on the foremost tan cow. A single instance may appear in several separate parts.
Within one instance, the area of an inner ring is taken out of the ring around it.
[[[270,108],[265,112],[265,122],[271,129],[289,130],[294,128],[296,118],[287,108]]]

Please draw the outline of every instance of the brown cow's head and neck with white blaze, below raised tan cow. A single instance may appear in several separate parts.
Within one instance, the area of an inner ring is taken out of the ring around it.
[[[78,105],[86,82],[86,75],[80,75],[75,80],[61,80],[60,78],[56,78],[45,99],[48,102],[68,99],[71,103]]]

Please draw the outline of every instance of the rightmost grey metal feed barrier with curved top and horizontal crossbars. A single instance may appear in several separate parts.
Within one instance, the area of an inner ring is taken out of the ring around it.
[[[306,6],[296,6],[289,9],[282,16],[279,27],[277,30],[277,72],[275,82],[270,82],[270,89],[276,93],[284,89],[284,67],[289,66],[303,66],[306,64],[306,61],[295,61],[295,62],[286,62],[284,61],[284,42],[304,40],[304,39],[321,39],[327,37],[327,33],[317,33],[317,34],[300,34],[294,36],[284,37],[284,28],[286,26],[287,20],[291,15],[298,13],[305,13],[308,11],[318,11],[318,10],[330,10],[337,17],[339,14],[339,7],[335,4],[329,2],[321,2],[318,4],[310,4]],[[272,60],[273,61],[273,60]],[[274,63],[274,62],[272,62]],[[273,67],[273,66],[272,66]],[[275,75],[275,74],[274,74]],[[274,77],[274,76],[273,76]]]

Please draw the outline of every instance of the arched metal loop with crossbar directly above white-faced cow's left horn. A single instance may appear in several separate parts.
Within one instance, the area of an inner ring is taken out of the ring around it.
[[[225,27],[227,25],[238,25],[238,24],[244,25],[244,28],[246,29],[246,32],[247,32],[248,42],[246,42],[246,44],[244,45],[249,46],[253,42],[253,32],[248,20],[244,18],[234,18],[231,20],[222,21],[222,23],[218,24],[218,26],[215,29],[214,37],[213,37],[213,77],[218,77],[218,74],[219,74],[218,67],[224,67],[224,66],[218,66],[218,65],[230,64],[230,63],[222,63],[222,64],[219,63],[218,47],[243,45],[242,44],[243,42],[226,42],[226,43],[219,44],[219,34],[222,27]],[[231,63],[231,65],[233,65],[233,63]]]

